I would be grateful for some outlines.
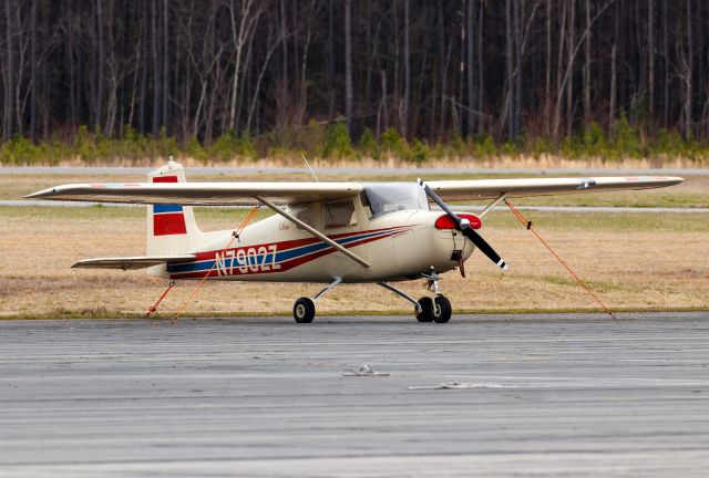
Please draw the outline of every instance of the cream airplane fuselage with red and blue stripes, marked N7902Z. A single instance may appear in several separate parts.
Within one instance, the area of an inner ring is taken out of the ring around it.
[[[379,282],[415,279],[433,267],[445,272],[458,267],[456,253],[473,252],[454,229],[438,229],[440,211],[400,210],[376,218],[360,218],[358,226],[323,230],[370,267],[363,267],[330,245],[299,229],[280,216],[248,226],[234,239],[232,231],[198,250],[191,262],[153,268],[151,273],[169,279],[268,282]],[[363,226],[363,227],[362,227]],[[278,231],[278,240],[274,240]],[[460,251],[460,252],[454,252]]]

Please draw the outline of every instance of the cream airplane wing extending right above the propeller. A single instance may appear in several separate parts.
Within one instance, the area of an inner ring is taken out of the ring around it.
[[[427,181],[445,200],[462,201],[506,197],[551,196],[620,189],[653,189],[678,185],[672,176],[627,176],[586,178],[472,179]]]

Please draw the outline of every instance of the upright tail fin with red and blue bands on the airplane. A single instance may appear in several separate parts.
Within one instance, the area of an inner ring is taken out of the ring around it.
[[[186,183],[182,165],[172,160],[147,174],[150,183]],[[152,205],[147,207],[147,256],[186,252],[201,242],[202,231],[191,206]]]

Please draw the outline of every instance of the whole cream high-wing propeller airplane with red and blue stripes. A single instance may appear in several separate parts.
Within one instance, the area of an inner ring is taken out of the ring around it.
[[[131,202],[147,208],[147,252],[82,260],[75,268],[144,269],[169,280],[209,279],[328,284],[294,304],[309,323],[315,302],[339,283],[376,283],[414,305],[420,322],[448,322],[451,303],[440,274],[475,248],[503,270],[505,261],[477,233],[487,212],[506,198],[680,184],[679,177],[593,177],[444,180],[423,183],[186,183],[174,162],[147,183],[56,186],[34,199]],[[490,200],[477,215],[453,212],[443,201]],[[431,210],[433,201],[442,209]],[[276,215],[234,231],[203,232],[192,206],[263,205]],[[425,279],[433,298],[415,300],[392,281]]]

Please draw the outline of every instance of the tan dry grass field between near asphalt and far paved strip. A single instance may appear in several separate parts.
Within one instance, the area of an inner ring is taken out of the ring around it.
[[[42,187],[48,186],[48,177],[40,179]],[[4,186],[16,187],[7,179]],[[706,193],[700,188],[695,193],[698,202],[706,205]],[[238,225],[244,214],[199,209],[197,221],[204,230],[227,229]],[[709,215],[526,215],[612,309],[709,310]],[[144,314],[165,281],[140,271],[70,269],[84,258],[143,254],[144,222],[143,208],[0,207],[0,316]],[[445,274],[443,292],[455,312],[597,309],[508,210],[489,215],[482,232],[511,269],[502,273],[474,253],[466,263],[467,279],[455,271]],[[172,316],[194,284],[178,283],[163,302],[162,316]],[[420,281],[401,288],[414,297],[425,292]],[[319,289],[317,284],[208,282],[188,314],[289,314],[295,299]],[[320,300],[318,308],[319,314],[411,312],[408,303],[376,285],[341,285]]]

